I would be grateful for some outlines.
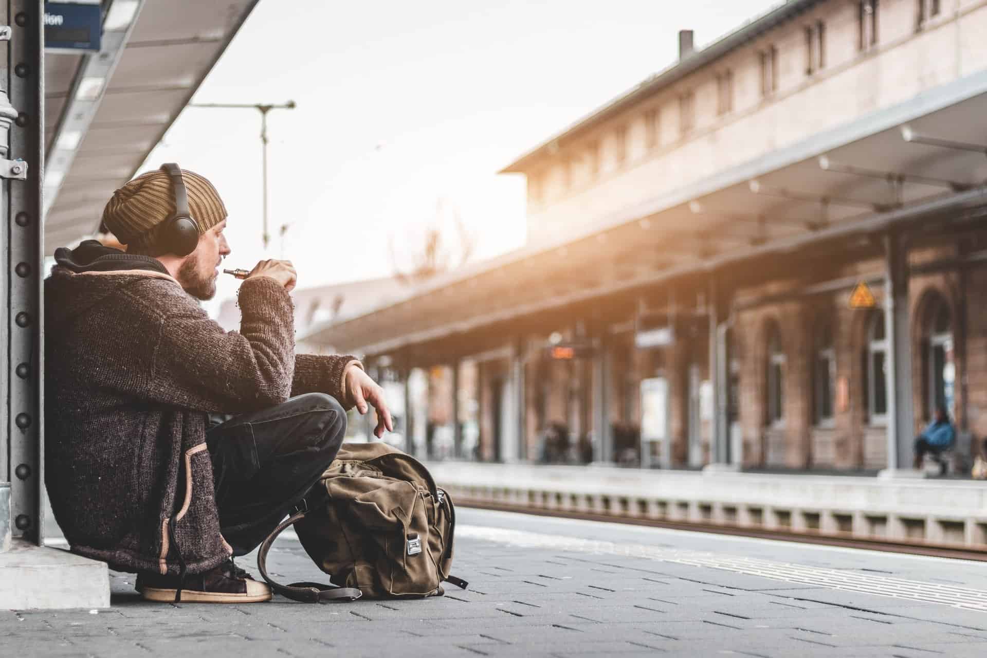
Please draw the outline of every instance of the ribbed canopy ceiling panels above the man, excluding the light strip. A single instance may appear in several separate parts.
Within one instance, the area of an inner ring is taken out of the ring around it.
[[[136,172],[186,107],[257,2],[145,0],[103,101],[46,215],[46,254],[96,232],[107,199]],[[49,158],[85,57],[45,54],[44,129]]]

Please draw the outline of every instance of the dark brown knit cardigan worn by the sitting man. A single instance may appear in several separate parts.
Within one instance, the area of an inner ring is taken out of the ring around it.
[[[352,356],[294,353],[292,304],[244,281],[241,330],[224,331],[157,271],[73,272],[44,282],[45,482],[72,549],[123,571],[190,573],[231,552],[219,529],[207,412],[253,411],[304,393],[344,406]],[[358,362],[357,362],[358,365]]]

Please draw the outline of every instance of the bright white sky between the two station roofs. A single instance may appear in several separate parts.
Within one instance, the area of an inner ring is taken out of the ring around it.
[[[393,273],[389,241],[407,268],[439,204],[447,229],[458,210],[474,260],[495,256],[525,236],[523,177],[500,168],[673,63],[680,29],[701,46],[777,4],[261,0],[194,102],[298,104],[269,114],[268,251],[260,112],[189,108],[144,169],[210,179],[230,212],[228,265],[283,249],[300,287]],[[238,285],[220,277],[217,303]]]

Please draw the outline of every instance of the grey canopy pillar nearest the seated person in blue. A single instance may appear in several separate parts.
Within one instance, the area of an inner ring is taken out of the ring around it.
[[[908,317],[908,248],[902,236],[884,237],[884,323],[887,332],[887,469],[911,463],[912,336]]]

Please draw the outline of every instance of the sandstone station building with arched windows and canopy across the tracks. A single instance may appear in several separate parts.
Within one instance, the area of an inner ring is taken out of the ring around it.
[[[523,249],[301,342],[395,381],[447,369],[455,446],[477,409],[463,458],[893,473],[942,404],[962,471],[987,436],[984,34],[982,0],[683,31],[676,63],[503,170],[527,179]]]

